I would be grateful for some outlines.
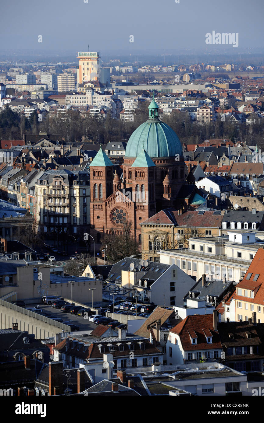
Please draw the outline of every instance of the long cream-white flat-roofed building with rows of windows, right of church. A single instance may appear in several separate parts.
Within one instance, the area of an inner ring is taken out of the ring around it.
[[[203,274],[207,280],[228,280],[236,283],[247,272],[258,247],[255,233],[229,232],[228,236],[190,238],[189,248],[160,250],[160,261],[176,264],[187,275],[199,280]]]

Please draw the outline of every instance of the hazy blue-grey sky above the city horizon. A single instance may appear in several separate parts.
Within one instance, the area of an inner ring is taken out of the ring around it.
[[[228,46],[236,53],[263,47],[263,12],[264,0],[1,0],[0,48],[200,50],[208,48],[205,34],[215,30],[239,33],[239,48]]]

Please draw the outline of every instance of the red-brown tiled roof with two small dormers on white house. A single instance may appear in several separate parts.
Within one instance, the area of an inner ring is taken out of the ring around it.
[[[206,335],[210,333],[209,331],[212,335],[212,343],[207,343],[206,340]],[[183,321],[173,327],[170,332],[179,335],[184,351],[222,348],[219,334],[213,327],[212,314],[187,316]],[[192,344],[190,336],[197,337],[196,344]]]

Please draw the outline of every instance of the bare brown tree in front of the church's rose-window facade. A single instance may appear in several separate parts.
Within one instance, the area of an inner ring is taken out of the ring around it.
[[[120,234],[117,230],[111,228],[108,233],[103,236],[102,244],[106,246],[106,254],[108,261],[116,263],[124,257],[139,254],[139,244],[132,235],[132,222],[124,223],[124,228]]]

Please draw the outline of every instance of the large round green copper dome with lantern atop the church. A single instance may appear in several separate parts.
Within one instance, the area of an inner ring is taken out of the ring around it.
[[[142,148],[149,157],[175,157],[183,155],[181,142],[169,125],[158,118],[158,104],[150,103],[148,120],[131,135],[125,149],[125,157],[138,157]]]

